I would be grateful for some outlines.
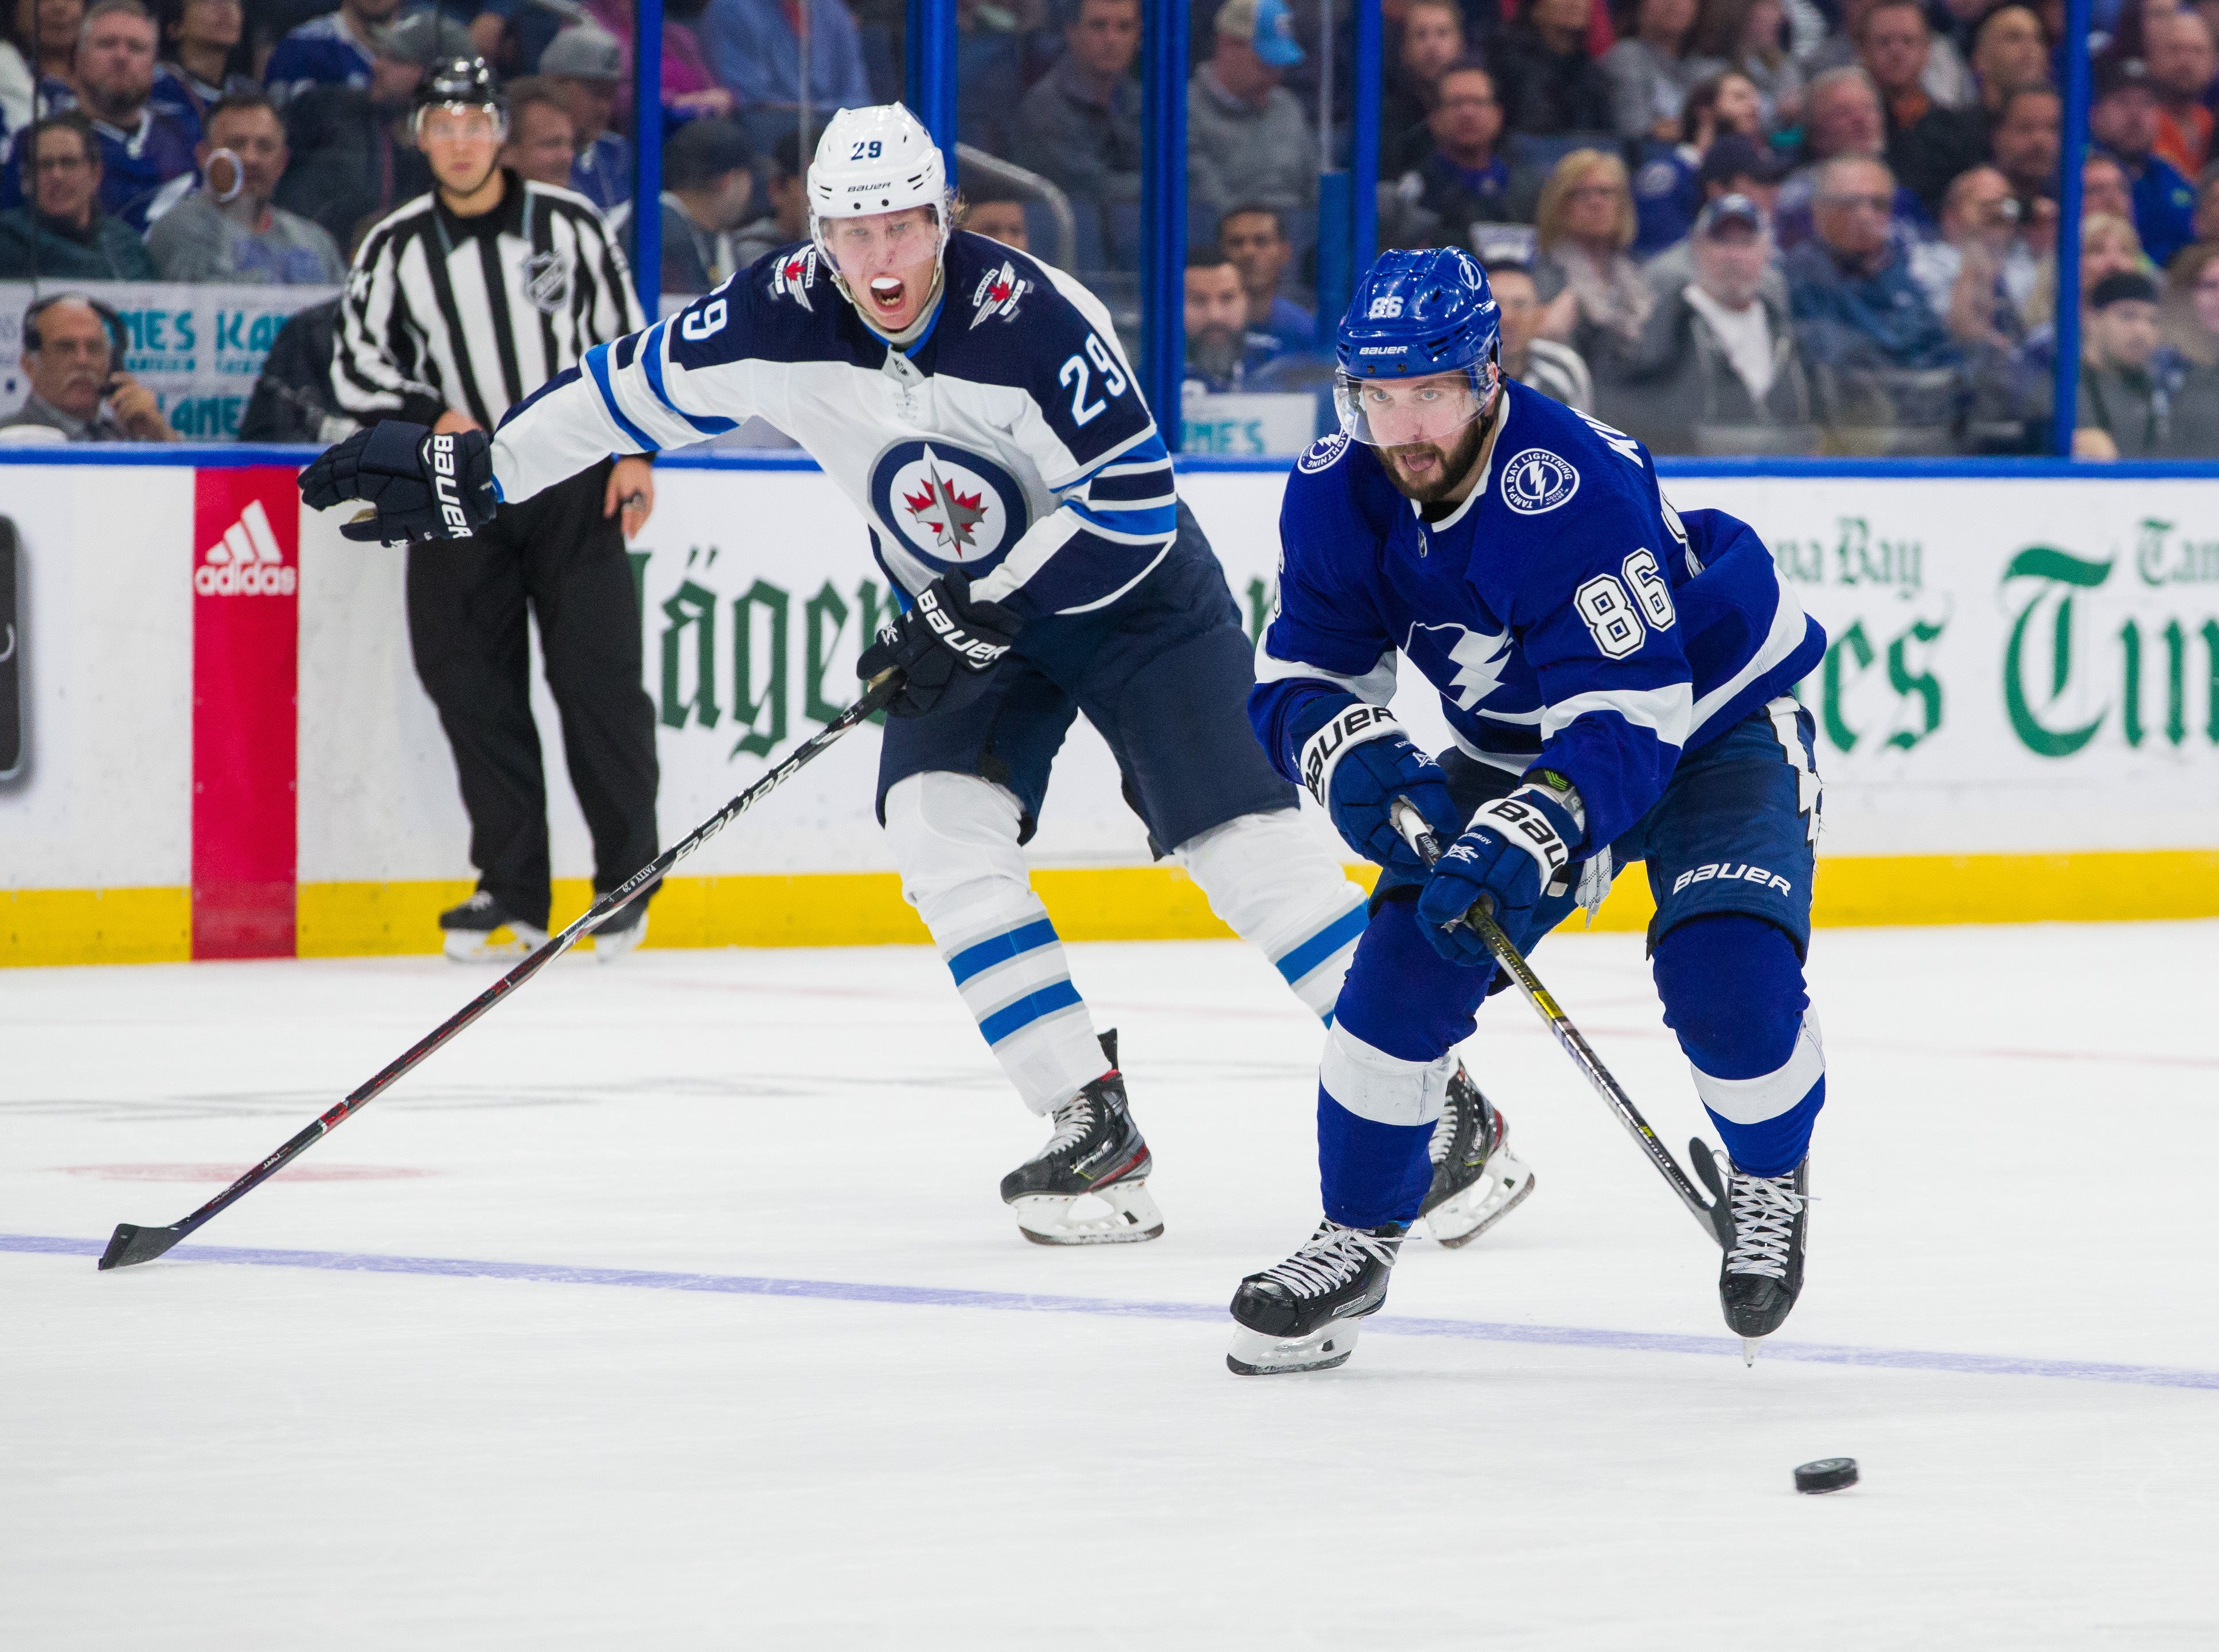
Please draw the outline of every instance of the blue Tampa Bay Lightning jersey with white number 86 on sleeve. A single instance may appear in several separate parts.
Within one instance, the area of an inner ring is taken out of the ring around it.
[[[1398,652],[1467,756],[1564,774],[1602,845],[1680,752],[1808,674],[1826,632],[1749,523],[1682,517],[1633,437],[1511,384],[1487,475],[1440,521],[1347,437],[1296,463],[1249,698],[1280,774],[1300,783],[1303,741],[1351,696],[1394,698]]]

